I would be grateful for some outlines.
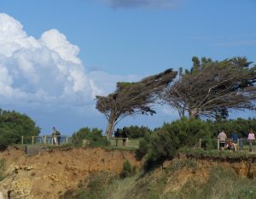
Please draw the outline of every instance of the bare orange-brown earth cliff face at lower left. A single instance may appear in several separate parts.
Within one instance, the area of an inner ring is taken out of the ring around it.
[[[119,174],[125,160],[140,167],[131,151],[106,151],[101,148],[75,148],[41,151],[26,156],[15,148],[0,152],[5,160],[0,191],[4,198],[58,198],[76,188],[90,173],[107,171]]]

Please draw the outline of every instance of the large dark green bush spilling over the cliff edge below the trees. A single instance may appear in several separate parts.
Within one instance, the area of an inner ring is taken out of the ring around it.
[[[165,123],[153,134],[146,134],[140,142],[138,155],[146,154],[145,168],[154,168],[175,156],[178,148],[195,146],[198,145],[199,139],[211,137],[212,133],[207,122],[183,118]]]

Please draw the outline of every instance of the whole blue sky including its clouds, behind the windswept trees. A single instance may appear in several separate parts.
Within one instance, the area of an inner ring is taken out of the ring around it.
[[[256,62],[255,9],[255,0],[1,0],[0,106],[26,113],[42,134],[52,126],[63,134],[104,129],[94,95],[109,94],[115,82],[189,68],[194,55]],[[156,109],[119,127],[177,118]]]

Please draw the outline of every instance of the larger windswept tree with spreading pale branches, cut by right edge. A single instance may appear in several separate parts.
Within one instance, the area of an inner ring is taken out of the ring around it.
[[[161,94],[180,117],[226,117],[230,110],[255,110],[256,65],[250,67],[252,62],[244,57],[192,61],[191,70],[179,74]]]

